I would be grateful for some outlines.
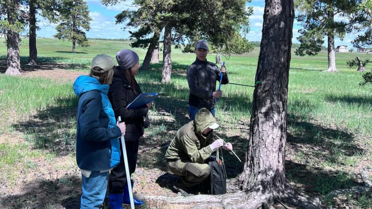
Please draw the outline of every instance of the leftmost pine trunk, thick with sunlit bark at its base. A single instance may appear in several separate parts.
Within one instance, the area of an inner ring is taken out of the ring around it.
[[[10,24],[14,24],[18,19],[18,4],[10,1],[7,5],[7,17]],[[13,30],[7,33],[7,69],[6,75],[20,75],[20,57],[19,57],[19,34]]]

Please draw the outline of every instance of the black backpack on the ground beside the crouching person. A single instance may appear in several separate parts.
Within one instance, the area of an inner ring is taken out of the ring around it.
[[[209,194],[226,194],[226,171],[224,166],[224,161],[219,157],[219,164],[217,162],[217,157],[211,155],[208,159],[208,165],[211,168],[211,174],[206,181],[209,184]]]

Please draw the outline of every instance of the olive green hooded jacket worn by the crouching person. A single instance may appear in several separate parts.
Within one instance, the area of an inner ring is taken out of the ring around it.
[[[216,122],[209,110],[200,109],[195,115],[195,120],[177,131],[165,154],[166,160],[191,160],[192,163],[203,163],[207,160],[213,152],[208,145],[214,142],[214,135],[212,131],[205,137],[202,132]]]

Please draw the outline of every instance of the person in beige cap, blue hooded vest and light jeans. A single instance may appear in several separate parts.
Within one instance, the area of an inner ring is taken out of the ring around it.
[[[125,124],[116,123],[107,97],[115,62],[100,54],[93,58],[90,75],[74,82],[80,97],[77,110],[76,161],[81,171],[81,209],[98,209],[105,199],[109,171],[120,162],[119,137]]]

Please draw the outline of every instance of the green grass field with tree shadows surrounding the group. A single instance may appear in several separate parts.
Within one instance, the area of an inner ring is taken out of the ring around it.
[[[25,65],[28,40],[23,39],[20,51],[22,70],[26,73],[20,77],[3,74],[6,70],[6,46],[0,45],[0,192],[9,193],[8,188],[22,190],[28,182],[35,181],[37,178],[30,179],[28,173],[38,171],[40,159],[54,167],[55,161],[74,161],[77,98],[72,90],[73,80],[77,74],[88,73],[90,61],[96,54],[106,53],[115,57],[116,52],[130,48],[129,42],[90,42],[89,48],[77,47],[77,53],[71,54],[71,42],[38,39],[40,66],[30,67]],[[146,51],[133,50],[141,62]],[[259,48],[256,48],[245,56],[232,55],[230,60],[222,57],[231,83],[254,84],[258,54]],[[346,66],[346,61],[356,56],[363,59],[371,55],[336,53],[336,67],[341,73],[324,73],[322,71],[328,67],[326,52],[322,51],[315,57],[298,57],[292,53],[286,171],[288,180],[310,196],[327,196],[334,189],[357,185],[355,175],[360,169],[372,174],[371,86],[359,86],[362,74]],[[208,58],[214,61],[215,55]],[[146,132],[142,148],[171,140],[174,132],[187,122],[189,91],[185,73],[194,60],[195,55],[173,49],[173,72],[169,84],[160,83],[161,64],[152,64],[150,70],[140,71],[137,75],[142,91],[160,93],[150,112],[152,125]],[[223,98],[216,107],[222,126],[218,135],[231,141],[234,150],[243,158],[253,88],[228,84],[222,86],[222,90]],[[162,158],[164,151],[161,148],[145,152],[140,155],[138,166],[147,171],[166,170]],[[230,156],[226,157],[226,164],[233,170],[231,178],[242,169],[241,164]],[[76,171],[77,168],[74,163],[67,163],[58,169]],[[19,170],[26,173],[17,172]],[[25,177],[27,183],[17,181],[20,177]],[[62,184],[54,181],[53,176],[44,179],[53,185]],[[342,204],[346,202],[350,208],[372,208],[370,197],[371,193],[348,194],[327,199],[324,204],[343,208]],[[8,199],[9,196],[1,197],[3,206],[17,208]],[[22,202],[23,199],[16,200]],[[25,204],[31,203],[26,201]],[[38,206],[53,206],[43,204]]]

